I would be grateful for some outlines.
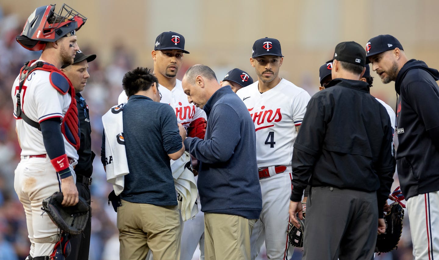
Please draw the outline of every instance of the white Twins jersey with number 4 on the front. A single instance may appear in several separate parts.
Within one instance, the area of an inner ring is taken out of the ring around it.
[[[286,79],[262,94],[258,83],[256,81],[236,93],[255,123],[258,167],[283,165],[287,166],[285,172],[291,172],[293,142],[297,136],[295,126],[302,124],[311,97]]]

